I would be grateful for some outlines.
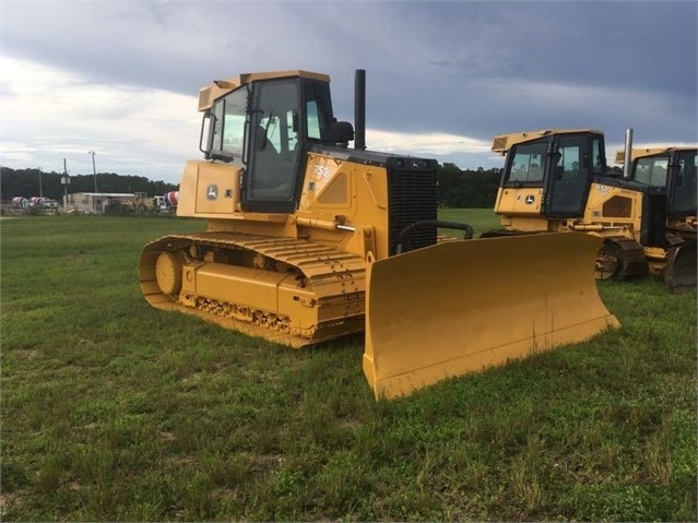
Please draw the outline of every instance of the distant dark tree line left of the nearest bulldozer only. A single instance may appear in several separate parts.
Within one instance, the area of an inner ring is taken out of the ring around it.
[[[44,173],[40,169],[11,169],[0,167],[0,198],[39,197],[62,201],[66,191],[61,183],[62,173]],[[176,191],[177,186],[165,181],[153,181],[144,176],[123,176],[116,173],[97,173],[97,192],[145,192],[149,197]],[[70,177],[68,193],[95,192],[94,175]]]

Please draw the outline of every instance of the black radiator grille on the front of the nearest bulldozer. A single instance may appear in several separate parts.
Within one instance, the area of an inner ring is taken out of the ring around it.
[[[436,219],[436,171],[388,171],[388,209],[390,255],[395,254],[398,237],[409,225],[425,219]],[[436,227],[414,229],[405,238],[402,252],[436,243]]]

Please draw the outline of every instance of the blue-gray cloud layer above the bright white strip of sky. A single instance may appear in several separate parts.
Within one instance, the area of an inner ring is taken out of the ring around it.
[[[382,131],[697,139],[694,1],[5,1],[1,19],[4,55],[86,84],[193,98],[214,79],[308,69],[332,76],[351,120],[362,68],[367,123]],[[3,97],[12,88],[3,80]],[[174,117],[196,117],[193,103]]]

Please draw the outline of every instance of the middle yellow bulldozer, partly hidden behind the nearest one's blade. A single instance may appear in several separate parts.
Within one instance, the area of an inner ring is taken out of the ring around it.
[[[663,185],[610,176],[603,132],[502,134],[495,136],[492,148],[506,155],[495,203],[504,229],[483,236],[587,231],[603,238],[599,278],[651,271],[663,274],[673,292],[696,285],[695,241],[667,228],[667,209],[676,193],[669,195]],[[695,180],[695,171],[691,176]]]

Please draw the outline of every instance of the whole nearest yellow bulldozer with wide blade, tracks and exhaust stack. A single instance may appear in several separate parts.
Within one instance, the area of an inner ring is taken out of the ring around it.
[[[292,347],[364,331],[377,397],[618,325],[598,294],[596,238],[438,241],[472,227],[437,219],[437,161],[366,150],[365,92],[358,70],[352,126],[326,74],[203,87],[203,159],[185,166],[177,215],[208,228],[143,248],[147,302]]]

